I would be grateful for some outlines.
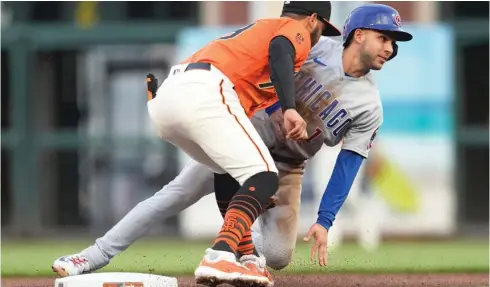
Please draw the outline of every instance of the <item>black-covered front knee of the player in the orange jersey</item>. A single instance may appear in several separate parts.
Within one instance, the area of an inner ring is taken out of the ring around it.
[[[253,192],[254,197],[265,207],[269,198],[273,196],[279,188],[279,177],[275,172],[259,172],[243,183],[243,187]]]

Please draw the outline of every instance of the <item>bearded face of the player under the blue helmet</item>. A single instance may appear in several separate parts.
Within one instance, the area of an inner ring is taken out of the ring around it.
[[[393,54],[393,39],[373,30],[363,30],[361,61],[366,69],[381,70]]]

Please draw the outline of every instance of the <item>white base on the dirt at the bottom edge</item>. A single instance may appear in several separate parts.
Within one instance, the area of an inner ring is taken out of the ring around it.
[[[91,273],[58,278],[54,287],[177,287],[177,278],[144,273]]]

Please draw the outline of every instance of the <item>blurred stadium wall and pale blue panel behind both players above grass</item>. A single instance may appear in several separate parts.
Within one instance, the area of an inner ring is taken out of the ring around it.
[[[333,2],[332,22],[367,2]],[[331,244],[480,237],[489,226],[489,3],[379,2],[414,40],[375,72],[385,121]],[[282,2],[2,2],[2,238],[95,239],[188,158],[158,139],[148,72]],[[308,163],[300,232],[316,219],[338,148]],[[210,220],[203,220],[206,212]],[[216,219],[216,220],[215,220]],[[151,235],[213,237],[213,197]],[[76,251],[76,250],[73,250]],[[488,251],[486,252],[488,255]]]

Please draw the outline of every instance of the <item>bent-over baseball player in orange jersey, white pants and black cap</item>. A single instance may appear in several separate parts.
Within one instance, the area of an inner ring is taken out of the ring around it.
[[[195,271],[198,283],[270,283],[261,266],[237,261],[239,243],[278,189],[277,168],[249,118],[279,99],[287,137],[307,138],[293,75],[321,35],[340,35],[330,12],[330,2],[286,1],[282,17],[258,20],[173,66],[148,102],[162,139],[240,184]]]

